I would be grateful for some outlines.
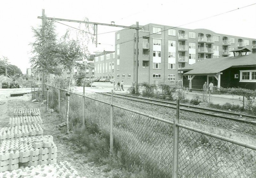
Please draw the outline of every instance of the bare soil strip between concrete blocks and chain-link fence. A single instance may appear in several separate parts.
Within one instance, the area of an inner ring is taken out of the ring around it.
[[[0,89],[1,90],[1,89]],[[4,103],[5,102],[5,103]],[[24,96],[10,97],[10,94],[1,93],[0,91],[0,128],[7,127],[9,118],[15,109],[39,108],[43,124],[44,135],[52,135],[53,141],[58,148],[57,161],[68,161],[78,172],[80,177],[84,178],[103,178],[108,177],[104,172],[104,167],[95,166],[93,162],[88,162],[87,155],[79,153],[76,147],[69,142],[66,127],[55,129],[55,125],[62,121],[58,113],[47,113],[46,107],[40,107],[41,103],[32,103],[31,94]]]

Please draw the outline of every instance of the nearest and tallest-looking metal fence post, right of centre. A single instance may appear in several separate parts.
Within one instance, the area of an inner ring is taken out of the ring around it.
[[[178,178],[178,154],[179,154],[179,124],[180,119],[180,100],[176,104],[176,120],[173,121],[173,157],[172,157],[172,178]]]

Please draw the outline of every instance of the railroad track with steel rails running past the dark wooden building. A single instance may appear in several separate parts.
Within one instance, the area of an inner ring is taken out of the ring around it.
[[[111,96],[110,93],[98,93],[98,94]],[[136,102],[154,104],[154,105],[158,105],[158,106],[162,106],[162,107],[176,109],[176,103],[159,101],[159,100],[154,100],[154,99],[149,99],[149,98],[144,98],[144,97],[127,96],[127,95],[116,94],[116,93],[113,93],[113,96],[122,98],[122,99],[136,101]],[[224,119],[234,120],[237,122],[244,122],[247,124],[256,125],[256,116],[251,116],[251,115],[228,112],[228,111],[223,111],[223,110],[213,110],[213,109],[208,109],[208,108],[201,108],[201,107],[196,107],[196,106],[191,106],[191,105],[186,105],[186,104],[180,104],[180,110],[192,112],[192,113],[196,113],[196,114],[208,115],[208,116],[212,116],[212,117],[220,117],[220,118],[224,118]]]

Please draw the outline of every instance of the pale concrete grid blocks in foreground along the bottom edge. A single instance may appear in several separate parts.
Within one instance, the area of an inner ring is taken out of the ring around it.
[[[38,165],[36,167],[20,167],[20,169],[13,170],[12,172],[6,171],[0,173],[0,177],[52,177],[52,178],[80,178],[77,171],[70,166],[67,161],[54,163],[50,165]]]

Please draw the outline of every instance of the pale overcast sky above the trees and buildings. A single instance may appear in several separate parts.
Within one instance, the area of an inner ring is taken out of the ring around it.
[[[256,39],[256,5],[242,8],[255,3],[256,0],[1,0],[0,56],[8,57],[11,64],[26,73],[26,68],[30,68],[31,56],[31,46],[28,44],[33,41],[31,27],[42,23],[41,19],[37,18],[42,16],[42,9],[45,9],[47,17],[72,20],[83,20],[87,17],[90,22],[110,24],[114,21],[116,25],[125,26],[136,24],[136,21],[139,25],[182,25],[182,28],[205,28],[216,33]],[[217,14],[221,15],[201,20]],[[197,20],[200,21],[194,22]],[[78,23],[61,23],[78,27]],[[67,28],[69,27],[56,23],[59,36],[62,36]],[[98,33],[121,29],[98,25]],[[90,52],[104,49],[114,51],[114,39],[115,32],[98,35],[98,43],[101,45],[96,48],[89,44]]]

